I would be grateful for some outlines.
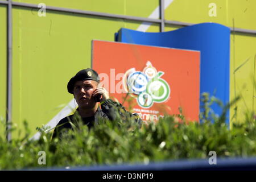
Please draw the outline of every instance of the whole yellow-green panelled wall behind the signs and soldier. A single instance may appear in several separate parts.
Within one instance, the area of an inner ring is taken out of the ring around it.
[[[148,0],[24,0],[17,2],[45,3],[47,6],[66,7],[148,17],[159,6],[159,1]],[[166,1],[167,2],[167,1]],[[174,0],[165,10],[165,19],[188,23],[216,22],[229,27],[256,30],[255,0]],[[217,6],[216,17],[209,16],[209,3]],[[1,93],[0,115],[6,107],[6,6],[0,5]],[[133,30],[142,22],[99,18],[97,16],[60,13],[46,10],[39,17],[38,10],[13,7],[13,122],[22,129],[26,119],[31,128],[49,122],[72,100],[67,82],[77,71],[90,67],[93,39],[114,41],[114,33],[125,27]],[[181,26],[166,26],[165,31]],[[159,24],[151,24],[147,32],[158,32]],[[230,100],[242,94],[237,103],[237,118],[243,121],[247,109],[253,108],[254,55],[256,36],[234,33],[230,38]],[[239,65],[243,67],[233,73]],[[245,85],[245,86],[244,86]],[[230,109],[230,117],[234,107]],[[2,133],[2,131],[1,131]],[[14,133],[13,137],[18,134]]]

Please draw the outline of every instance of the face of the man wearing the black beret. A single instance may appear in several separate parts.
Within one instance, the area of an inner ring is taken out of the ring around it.
[[[92,109],[96,102],[92,97],[98,83],[93,80],[77,81],[74,85],[73,94],[81,109]]]

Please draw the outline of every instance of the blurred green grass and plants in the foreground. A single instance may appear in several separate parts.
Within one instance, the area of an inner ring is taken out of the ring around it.
[[[208,94],[203,94],[201,101],[204,102],[202,123],[186,121],[181,113],[168,115],[156,124],[143,124],[141,129],[130,121],[107,122],[90,131],[79,125],[75,131],[64,134],[62,140],[51,140],[51,133],[46,133],[45,128],[39,129],[42,132],[39,140],[29,140],[30,131],[24,122],[25,137],[10,142],[0,138],[0,169],[208,159],[209,151],[216,151],[218,158],[255,156],[256,121],[252,113],[229,130],[225,115],[230,105],[223,106]],[[220,116],[209,109],[216,102],[223,109]],[[39,151],[46,152],[46,165],[38,164]]]

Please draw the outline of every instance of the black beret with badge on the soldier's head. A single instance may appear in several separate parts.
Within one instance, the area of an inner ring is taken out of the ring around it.
[[[73,89],[76,81],[82,81],[82,80],[94,80],[94,81],[100,82],[100,77],[98,76],[98,73],[93,69],[90,69],[90,68],[82,69],[69,80],[68,92],[73,93]]]

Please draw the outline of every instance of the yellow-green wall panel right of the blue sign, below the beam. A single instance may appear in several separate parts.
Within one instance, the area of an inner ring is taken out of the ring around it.
[[[243,122],[249,111],[254,111],[256,114],[256,105],[254,106],[256,104],[254,97],[256,36],[232,34],[230,40],[230,100],[241,96],[241,100],[230,109],[230,117],[236,115],[232,122]],[[237,112],[234,110],[236,108]]]

